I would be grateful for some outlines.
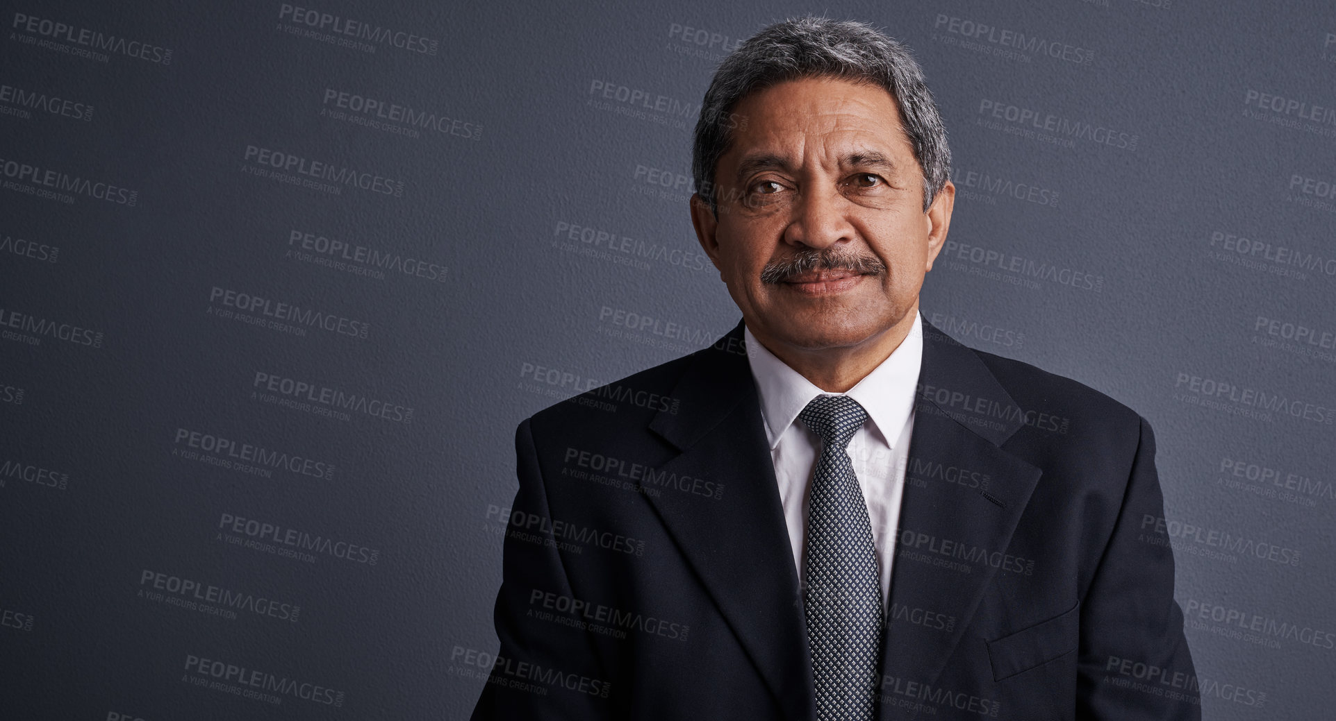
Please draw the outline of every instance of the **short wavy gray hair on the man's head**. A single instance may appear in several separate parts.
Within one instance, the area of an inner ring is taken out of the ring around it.
[[[747,95],[799,77],[838,77],[886,88],[923,170],[923,212],[946,186],[951,150],[923,68],[908,48],[866,23],[799,17],[770,25],[737,47],[715,71],[705,91],[691,154],[696,192],[717,216],[715,168],[737,126],[732,108]],[[745,119],[743,120],[745,122]]]

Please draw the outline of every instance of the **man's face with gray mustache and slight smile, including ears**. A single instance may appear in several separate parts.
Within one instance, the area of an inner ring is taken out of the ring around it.
[[[818,351],[912,319],[955,188],[923,212],[923,174],[891,95],[808,77],[732,112],[747,123],[715,170],[717,219],[693,196],[692,223],[752,334]]]

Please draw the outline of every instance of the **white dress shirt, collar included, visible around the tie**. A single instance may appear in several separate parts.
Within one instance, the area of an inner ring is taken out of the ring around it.
[[[914,431],[914,390],[923,363],[923,316],[915,315],[915,320],[899,347],[847,393],[827,393],[814,386],[762,346],[751,328],[743,328],[799,579],[804,578],[808,497],[822,441],[798,421],[798,414],[818,395],[850,395],[867,411],[867,421],[854,433],[846,453],[872,525],[883,613],[888,605],[895,531]]]

